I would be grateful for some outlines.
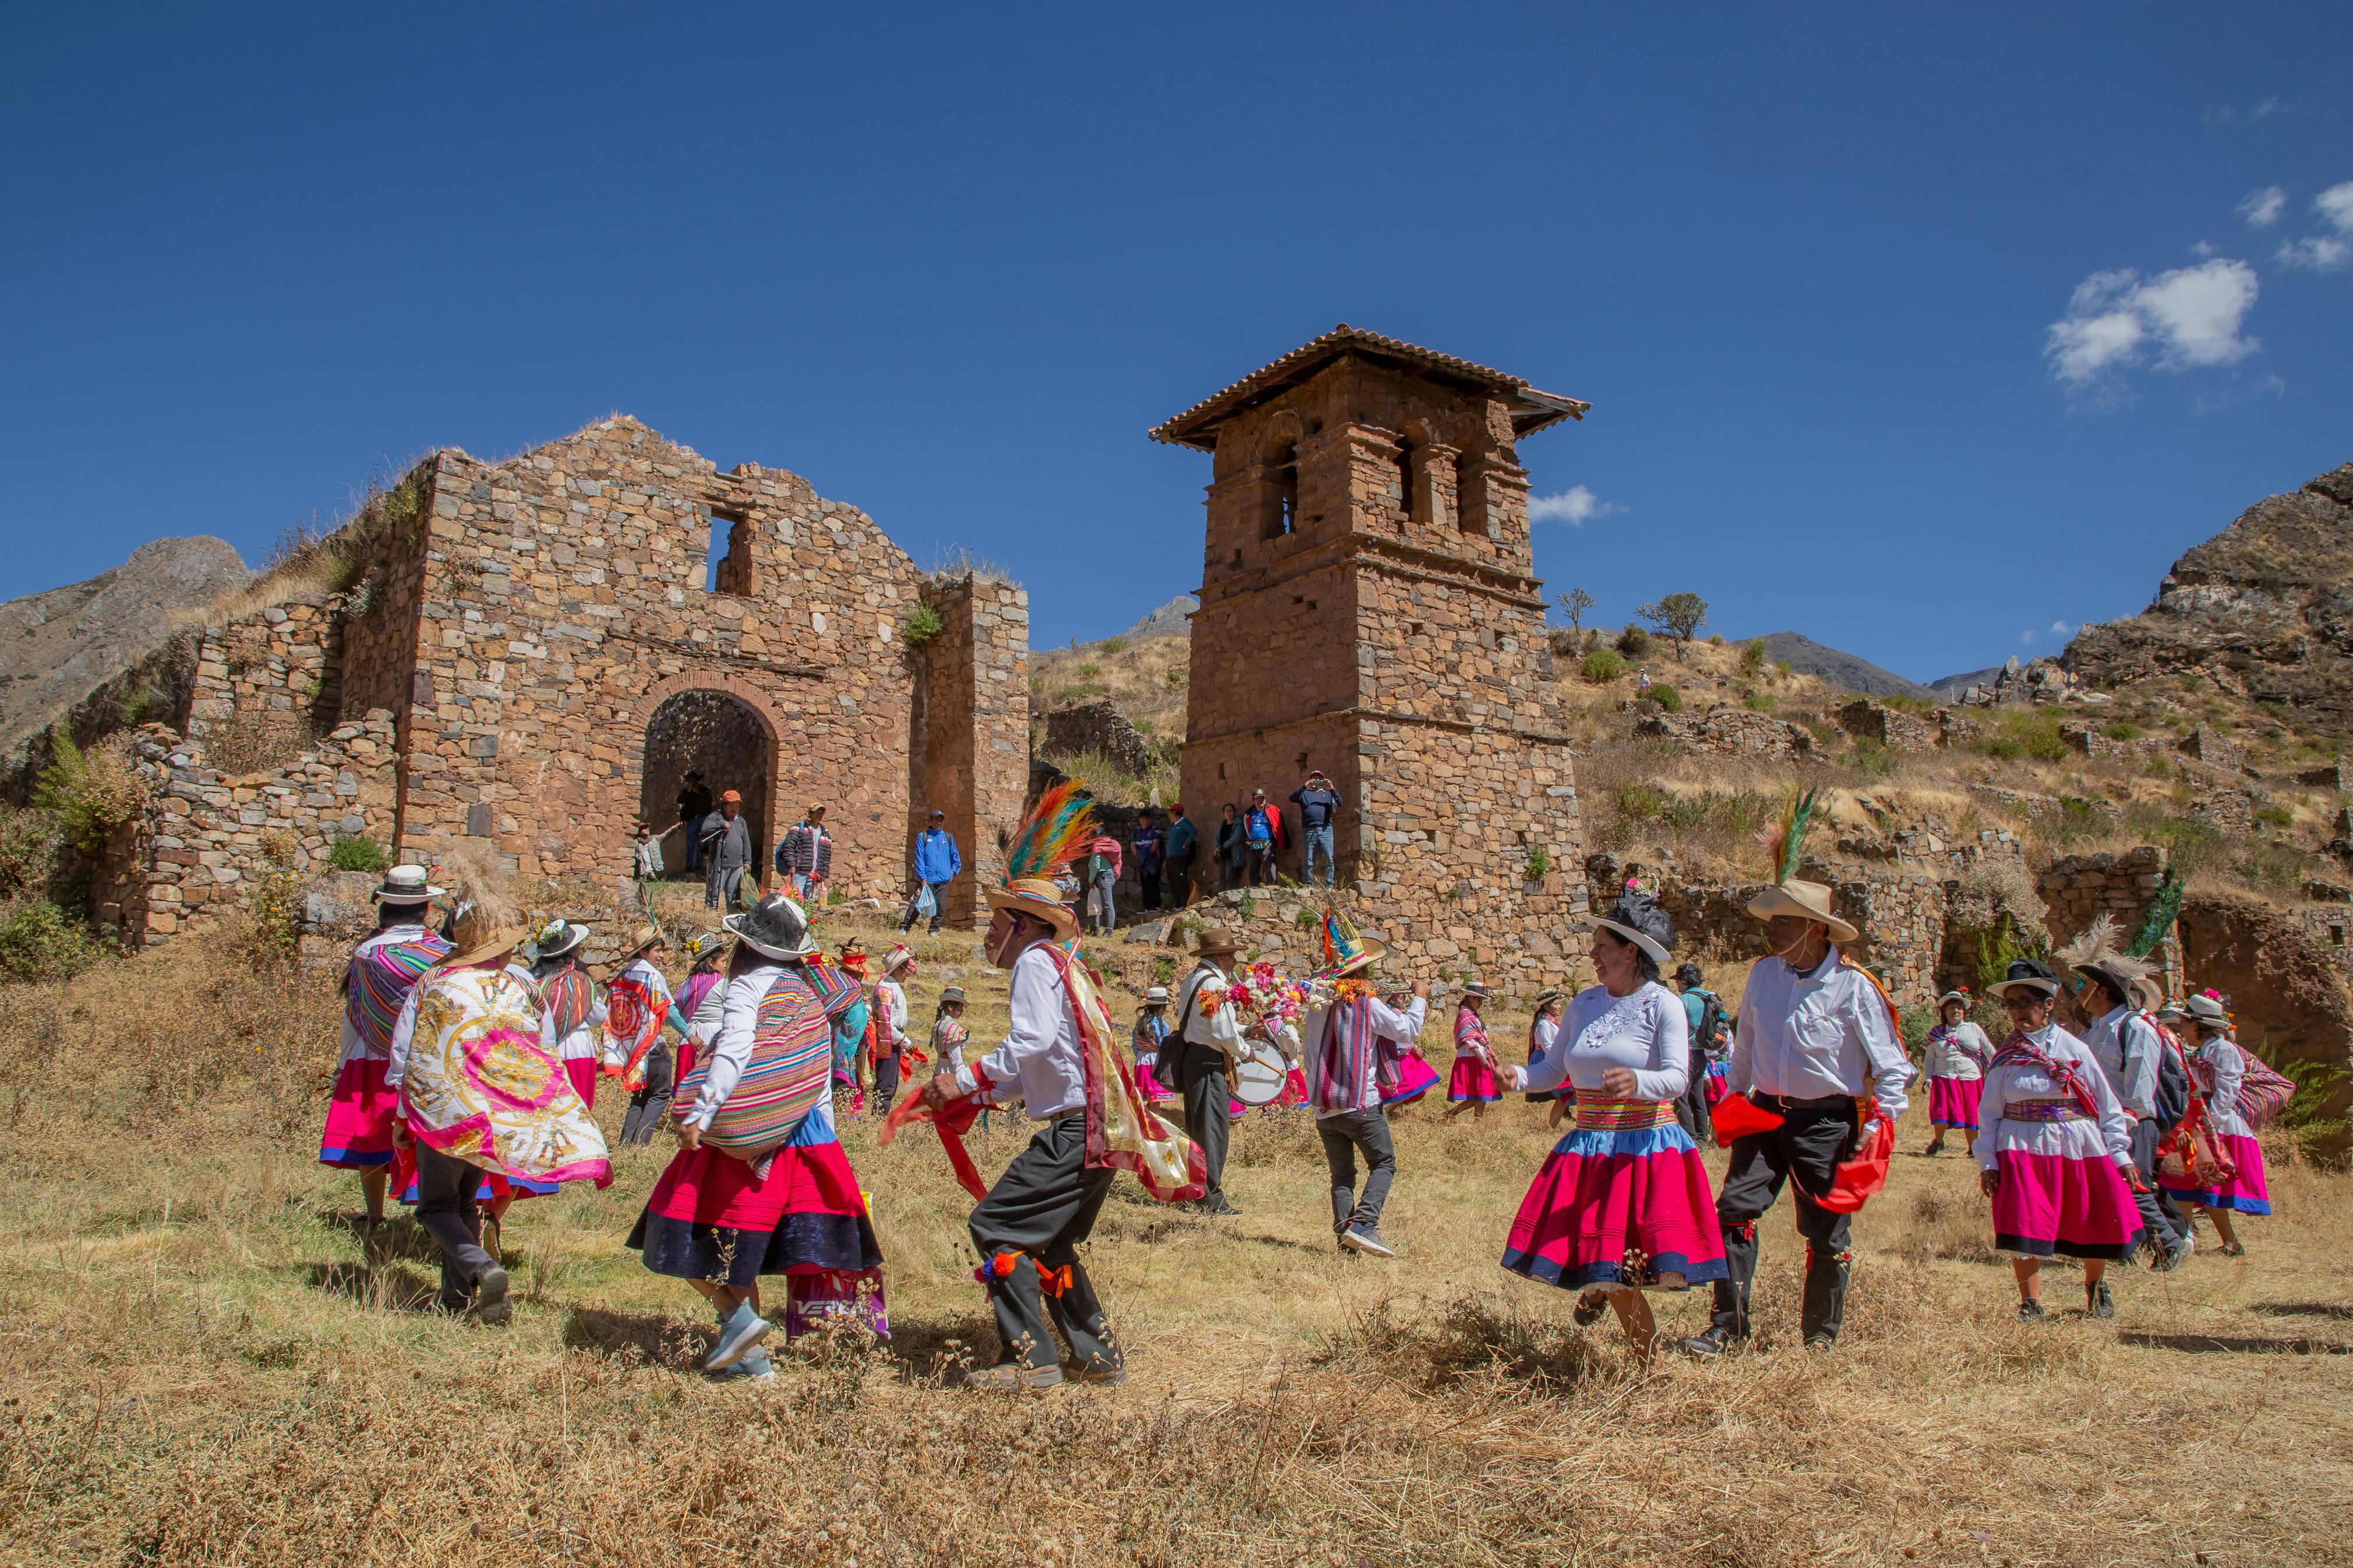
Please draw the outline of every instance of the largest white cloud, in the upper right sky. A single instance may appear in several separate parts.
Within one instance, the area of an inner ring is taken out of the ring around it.
[[[2052,322],[2042,355],[2075,388],[2141,364],[2144,350],[2153,350],[2158,369],[2238,364],[2259,348],[2240,336],[2259,292],[2245,261],[2205,261],[2148,280],[2132,268],[2092,273],[2075,284],[2066,320]]]

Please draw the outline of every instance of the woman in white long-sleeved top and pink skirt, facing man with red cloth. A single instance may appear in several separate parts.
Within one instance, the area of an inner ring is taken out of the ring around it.
[[[1621,896],[1593,933],[1600,985],[1577,992],[1541,1063],[1504,1070],[1513,1088],[1577,1088],[1577,1126],[1520,1201],[1504,1267],[1577,1291],[1579,1324],[1617,1309],[1642,1356],[1659,1338],[1642,1291],[1727,1279],[1708,1168],[1675,1121],[1692,1025],[1659,983],[1673,940],[1647,893]]]

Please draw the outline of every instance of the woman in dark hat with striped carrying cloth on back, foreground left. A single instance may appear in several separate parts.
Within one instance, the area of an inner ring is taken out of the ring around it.
[[[729,914],[736,938],[711,1053],[680,1081],[678,1154],[628,1246],[645,1267],[694,1286],[718,1314],[706,1373],[774,1375],[760,1342],[760,1279],[786,1276],[784,1333],[838,1316],[889,1335],[882,1248],[856,1171],[833,1131],[828,1025],[807,959],[807,917],[784,893]]]

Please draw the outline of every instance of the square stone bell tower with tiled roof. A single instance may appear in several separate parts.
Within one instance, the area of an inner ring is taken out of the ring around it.
[[[1151,433],[1214,456],[1188,811],[1329,773],[1339,879],[1421,973],[1527,990],[1584,914],[1515,444],[1586,407],[1341,324]]]

